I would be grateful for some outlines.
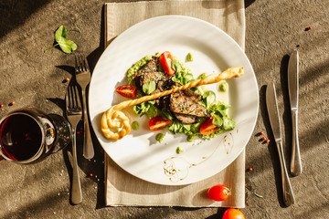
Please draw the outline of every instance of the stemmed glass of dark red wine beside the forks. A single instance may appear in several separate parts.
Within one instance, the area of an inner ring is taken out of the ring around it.
[[[16,110],[0,120],[0,154],[9,161],[40,161],[69,143],[69,122],[39,110]]]

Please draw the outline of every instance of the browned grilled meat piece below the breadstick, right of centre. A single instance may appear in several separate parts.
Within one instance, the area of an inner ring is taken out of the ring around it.
[[[175,117],[183,123],[194,123],[198,117],[209,117],[206,108],[191,99],[191,97],[186,96],[182,91],[177,91],[170,95],[169,109],[174,113],[178,113]],[[184,115],[188,117],[183,119]],[[192,120],[191,116],[192,118],[196,117],[196,120]]]

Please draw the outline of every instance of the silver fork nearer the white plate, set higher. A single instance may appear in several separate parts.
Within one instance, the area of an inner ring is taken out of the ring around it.
[[[82,103],[83,103],[83,123],[84,123],[84,141],[83,141],[83,156],[86,159],[91,159],[94,156],[94,149],[92,146],[90,136],[90,126],[86,107],[86,87],[90,83],[90,68],[87,59],[78,54],[75,56],[75,72],[76,79],[81,88]]]

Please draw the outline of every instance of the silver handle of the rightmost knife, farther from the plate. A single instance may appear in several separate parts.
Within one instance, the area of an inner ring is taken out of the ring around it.
[[[292,110],[292,175],[297,176],[302,173],[301,153],[298,142],[297,110]]]

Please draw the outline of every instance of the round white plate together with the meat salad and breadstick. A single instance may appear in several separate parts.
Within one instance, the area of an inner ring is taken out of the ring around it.
[[[209,80],[217,82],[202,84]],[[258,105],[239,45],[188,16],[130,27],[105,49],[90,81],[90,120],[101,147],[122,170],[164,185],[196,183],[226,168],[249,141]],[[113,122],[118,127],[107,133]]]

